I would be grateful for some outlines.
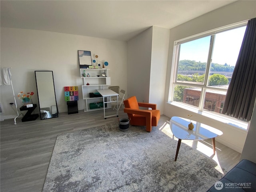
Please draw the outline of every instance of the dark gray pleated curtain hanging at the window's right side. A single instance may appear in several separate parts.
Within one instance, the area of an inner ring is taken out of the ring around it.
[[[256,98],[256,18],[248,21],[222,114],[250,120]]]

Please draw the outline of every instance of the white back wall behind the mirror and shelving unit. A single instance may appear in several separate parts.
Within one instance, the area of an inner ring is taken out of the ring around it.
[[[98,60],[108,61],[111,84],[127,89],[126,42],[14,28],[1,28],[0,35],[1,67],[12,67],[15,95],[20,91],[35,92],[33,103],[38,104],[34,71],[52,70],[59,112],[67,111],[64,86],[78,86],[78,110],[84,109],[78,50],[91,51],[92,56],[98,54]],[[14,114],[9,105],[14,102],[10,86],[1,86],[0,101],[5,114]],[[17,100],[17,104],[18,108],[22,106],[21,100]]]

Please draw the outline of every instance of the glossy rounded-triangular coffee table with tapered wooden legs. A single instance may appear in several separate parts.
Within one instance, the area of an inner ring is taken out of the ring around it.
[[[195,122],[195,121],[191,121],[191,122],[194,124],[193,130],[188,129],[188,124],[190,124],[189,119],[174,116],[170,120],[170,128],[172,130],[172,134],[176,138],[178,138],[178,146],[177,146],[174,161],[177,160],[182,139],[184,140],[212,139],[212,148],[213,148],[213,153],[215,154],[215,138],[217,136],[222,135],[223,133],[218,129],[202,124],[200,122]]]

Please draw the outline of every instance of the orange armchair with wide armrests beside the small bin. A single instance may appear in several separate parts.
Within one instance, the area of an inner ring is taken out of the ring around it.
[[[124,100],[124,112],[128,114],[131,125],[146,126],[146,131],[151,132],[152,126],[157,126],[160,119],[160,110],[156,109],[156,104],[137,102],[136,96]],[[152,110],[142,110],[139,107],[152,108]]]

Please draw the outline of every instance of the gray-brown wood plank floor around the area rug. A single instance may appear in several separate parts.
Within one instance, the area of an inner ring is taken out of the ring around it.
[[[108,109],[109,113],[113,113]],[[119,111],[119,118],[127,114]],[[159,126],[168,126],[170,118],[162,115]],[[1,150],[1,192],[41,192],[52,151],[59,134],[92,128],[112,122],[118,118],[104,119],[103,111],[83,112],[78,114],[60,113],[58,118],[21,122],[21,118],[0,122]],[[240,153],[216,142],[216,155],[212,154],[211,140],[185,142],[200,151],[207,158],[217,162],[227,171],[235,166]],[[176,151],[176,148],[173,149]],[[174,157],[173,157],[174,160]],[[178,157],[179,160],[179,157]]]

